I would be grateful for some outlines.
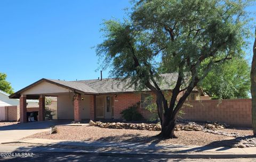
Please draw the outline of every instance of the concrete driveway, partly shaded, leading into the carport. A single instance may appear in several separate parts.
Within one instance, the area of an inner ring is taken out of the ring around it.
[[[17,141],[29,135],[49,130],[53,125],[69,124],[69,120],[18,123],[0,126],[0,143]]]

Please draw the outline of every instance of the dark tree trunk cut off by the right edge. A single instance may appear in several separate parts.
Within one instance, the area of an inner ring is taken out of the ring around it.
[[[251,67],[251,94],[252,94],[252,129],[256,135],[256,29],[255,41],[253,45],[253,58]]]

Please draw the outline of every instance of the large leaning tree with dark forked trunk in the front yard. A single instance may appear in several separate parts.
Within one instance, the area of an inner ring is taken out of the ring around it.
[[[124,22],[105,21],[97,55],[110,76],[156,95],[163,138],[175,138],[179,111],[213,66],[242,55],[245,1],[141,0]],[[177,73],[167,101],[159,69]],[[179,95],[181,94],[181,96]]]

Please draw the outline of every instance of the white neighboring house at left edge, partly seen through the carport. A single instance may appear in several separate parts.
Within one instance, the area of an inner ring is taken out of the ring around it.
[[[2,106],[18,106],[20,105],[19,99],[9,98],[10,94],[0,90],[0,107]],[[38,105],[38,100],[28,99],[27,105]]]

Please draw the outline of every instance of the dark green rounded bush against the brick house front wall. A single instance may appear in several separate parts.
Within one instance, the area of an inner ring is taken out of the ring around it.
[[[126,121],[141,121],[143,116],[138,113],[137,105],[129,106],[128,108],[124,109],[121,114]]]

